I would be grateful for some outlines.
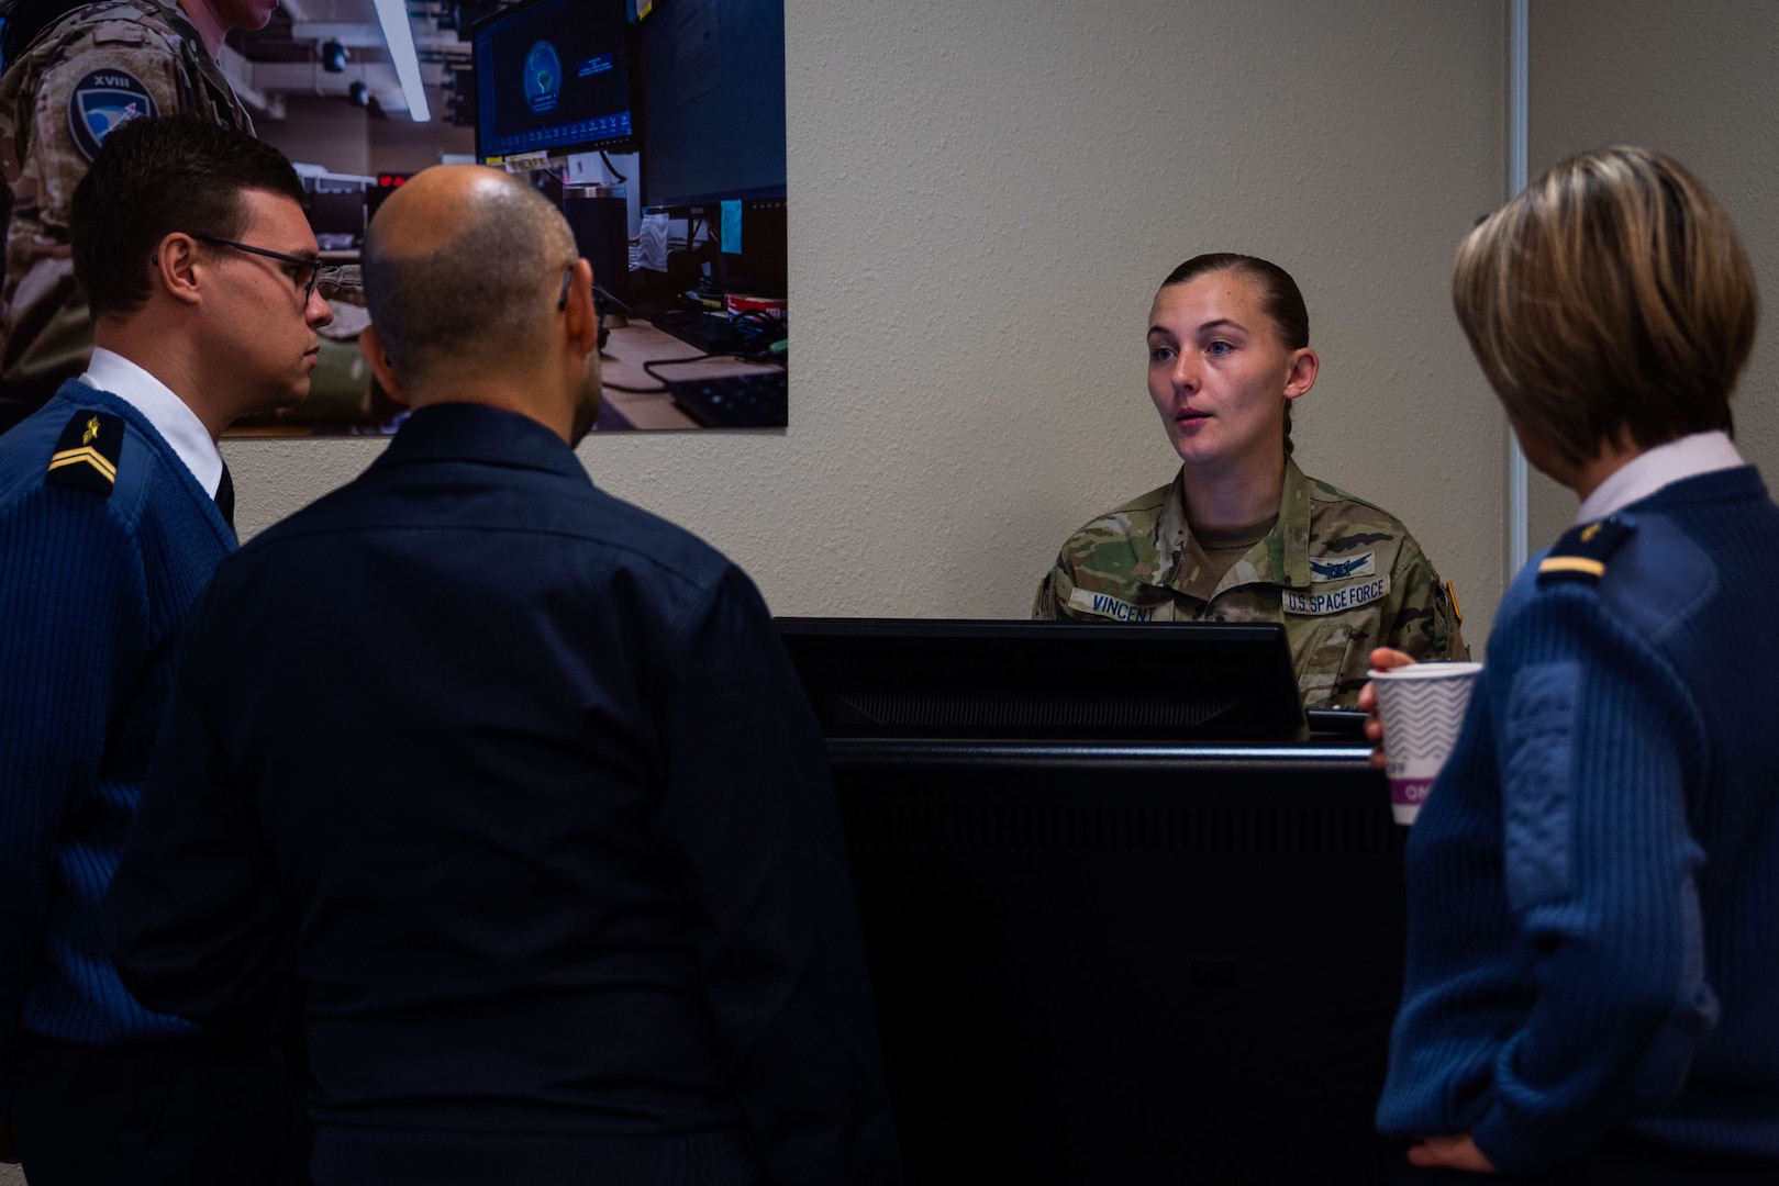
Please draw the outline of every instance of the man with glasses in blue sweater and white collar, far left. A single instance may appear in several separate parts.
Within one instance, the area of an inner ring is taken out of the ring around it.
[[[144,1008],[98,928],[235,549],[215,437],[308,393],[331,318],[301,197],[240,132],[114,132],[73,197],[93,361],[0,436],[0,1159],[32,1186],[301,1181],[278,1049]]]

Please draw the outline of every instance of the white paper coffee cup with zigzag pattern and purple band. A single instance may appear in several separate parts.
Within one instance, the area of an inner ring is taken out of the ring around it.
[[[1384,722],[1384,773],[1397,823],[1414,823],[1427,802],[1439,766],[1457,743],[1480,670],[1482,663],[1414,663],[1370,672]]]

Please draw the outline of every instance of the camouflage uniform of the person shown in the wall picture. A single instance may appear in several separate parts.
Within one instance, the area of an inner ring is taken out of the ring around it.
[[[197,30],[157,0],[101,0],[46,28],[0,75],[0,178],[12,196],[0,288],[0,381],[48,397],[93,352],[68,208],[105,133],[187,112],[253,132]]]

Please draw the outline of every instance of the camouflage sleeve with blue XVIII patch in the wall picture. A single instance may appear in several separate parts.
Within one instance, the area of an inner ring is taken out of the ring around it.
[[[30,62],[21,62],[28,68]],[[68,212],[103,133],[133,114],[180,110],[178,64],[153,30],[125,20],[93,25],[20,94],[18,178],[5,247],[5,356],[11,382],[76,375],[93,349],[85,295],[75,284]]]

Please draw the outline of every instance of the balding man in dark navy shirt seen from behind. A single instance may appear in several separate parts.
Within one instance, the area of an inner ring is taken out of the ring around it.
[[[820,733],[753,581],[592,485],[592,274],[427,169],[365,240],[413,411],[229,557],[105,902],[157,1008],[302,1014],[317,1186],[898,1179]]]

